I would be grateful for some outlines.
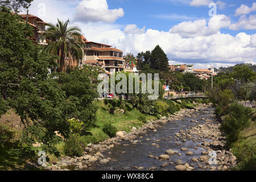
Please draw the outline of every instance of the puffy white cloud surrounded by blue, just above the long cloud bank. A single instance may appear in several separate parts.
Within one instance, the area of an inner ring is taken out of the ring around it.
[[[195,20],[194,22],[181,22],[171,28],[170,32],[179,34],[184,38],[196,36],[209,36],[217,34],[221,28],[230,26],[230,19],[225,15],[215,15],[207,21],[204,19]]]

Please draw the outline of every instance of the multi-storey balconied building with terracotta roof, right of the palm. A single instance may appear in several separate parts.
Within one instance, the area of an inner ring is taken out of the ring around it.
[[[84,64],[99,65],[105,69],[106,73],[109,75],[115,72],[121,72],[125,69],[123,52],[112,46],[86,40],[84,55]]]

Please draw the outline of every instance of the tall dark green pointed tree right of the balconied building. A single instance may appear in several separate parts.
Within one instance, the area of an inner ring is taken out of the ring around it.
[[[159,45],[157,45],[151,52],[150,66],[159,71],[168,71],[167,55]]]

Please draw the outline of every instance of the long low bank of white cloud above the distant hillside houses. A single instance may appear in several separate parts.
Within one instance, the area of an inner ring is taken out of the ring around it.
[[[245,33],[236,36],[219,33],[183,38],[179,34],[148,29],[144,34],[129,34],[119,39],[115,46],[125,53],[136,54],[152,50],[159,44],[170,60],[184,63],[235,64],[245,60],[255,61],[256,48],[247,47],[250,40],[250,35]]]

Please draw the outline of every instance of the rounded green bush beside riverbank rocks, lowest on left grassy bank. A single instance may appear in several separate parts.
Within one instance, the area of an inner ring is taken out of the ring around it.
[[[80,137],[77,135],[70,135],[64,144],[64,152],[67,156],[81,156],[84,152]]]

